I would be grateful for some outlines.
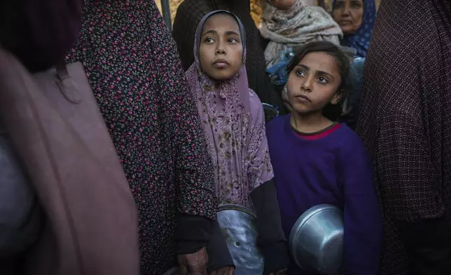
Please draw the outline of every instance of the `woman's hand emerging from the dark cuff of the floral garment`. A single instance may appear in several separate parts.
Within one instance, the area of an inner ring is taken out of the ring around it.
[[[205,248],[193,254],[178,255],[181,275],[207,275],[208,254]]]

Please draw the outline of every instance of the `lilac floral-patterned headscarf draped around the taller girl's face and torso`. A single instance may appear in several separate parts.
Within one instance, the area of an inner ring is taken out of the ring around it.
[[[205,22],[218,13],[235,18],[243,46],[240,70],[227,81],[209,78],[200,67],[202,29]],[[240,19],[223,10],[205,15],[196,29],[194,56],[195,62],[186,72],[186,78],[197,99],[197,109],[214,166],[218,198],[221,203],[251,207],[249,192],[271,180],[273,175],[263,107],[247,82],[246,33]]]

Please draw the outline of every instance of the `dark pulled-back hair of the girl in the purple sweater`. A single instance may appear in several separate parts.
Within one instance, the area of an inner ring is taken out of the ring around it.
[[[327,53],[328,55],[331,55],[333,58],[335,58],[335,61],[337,62],[339,74],[341,76],[341,83],[340,86],[338,86],[337,93],[340,93],[342,97],[340,102],[338,102],[338,104],[336,105],[328,103],[328,105],[326,105],[323,109],[323,115],[328,119],[331,119],[331,121],[338,121],[342,114],[342,102],[346,99],[347,85],[349,81],[349,67],[351,66],[352,62],[352,60],[350,60],[349,57],[343,51],[341,51],[340,48],[338,48],[338,46],[328,41],[308,43],[307,45],[299,48],[298,51],[296,51],[296,55],[294,56],[293,60],[291,60],[290,64],[286,67],[286,70],[288,74],[290,74],[291,71],[293,71],[293,69],[296,67],[296,65],[299,64],[300,60],[305,57],[305,55],[315,52]]]

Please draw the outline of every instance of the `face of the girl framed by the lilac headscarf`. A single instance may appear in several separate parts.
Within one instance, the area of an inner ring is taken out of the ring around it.
[[[240,71],[243,46],[240,27],[230,15],[212,15],[204,24],[200,38],[200,67],[218,81],[228,80]]]

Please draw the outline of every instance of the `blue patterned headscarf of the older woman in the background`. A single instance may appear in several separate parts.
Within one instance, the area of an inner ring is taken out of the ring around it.
[[[332,3],[332,10],[335,8],[335,1]],[[363,18],[359,29],[354,34],[345,35],[341,41],[342,46],[355,48],[357,56],[366,57],[366,52],[370,46],[371,34],[376,20],[376,4],[374,0],[363,0]]]

